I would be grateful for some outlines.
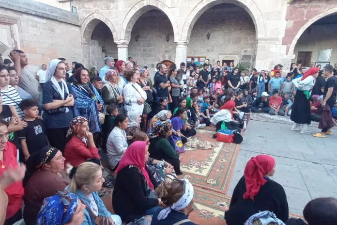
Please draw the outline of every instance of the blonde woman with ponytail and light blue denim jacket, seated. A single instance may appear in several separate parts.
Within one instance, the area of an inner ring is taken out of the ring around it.
[[[105,181],[100,165],[94,162],[83,162],[78,167],[68,165],[67,174],[71,180],[66,190],[75,193],[86,206],[82,225],[96,225],[91,214],[104,216],[109,224],[122,225],[121,217],[112,215],[97,194]]]

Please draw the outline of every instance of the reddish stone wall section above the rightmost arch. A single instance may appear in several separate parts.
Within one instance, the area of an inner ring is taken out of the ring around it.
[[[282,44],[287,45],[287,54],[293,38],[310,19],[336,6],[337,0],[311,0],[309,3],[295,1],[288,5],[287,28],[282,39]]]

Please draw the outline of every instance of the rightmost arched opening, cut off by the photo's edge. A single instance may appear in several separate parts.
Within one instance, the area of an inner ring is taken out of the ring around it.
[[[337,13],[324,16],[315,21],[298,38],[292,63],[302,66],[337,63]]]

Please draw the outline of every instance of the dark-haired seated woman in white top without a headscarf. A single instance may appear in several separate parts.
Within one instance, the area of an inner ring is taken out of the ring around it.
[[[116,170],[124,152],[127,149],[125,129],[128,126],[128,118],[124,113],[115,118],[115,127],[107,137],[107,159],[112,170]]]

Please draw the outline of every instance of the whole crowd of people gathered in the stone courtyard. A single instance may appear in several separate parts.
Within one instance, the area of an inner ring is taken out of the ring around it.
[[[280,64],[270,75],[256,69],[248,75],[233,63],[212,66],[206,60],[198,67],[192,59],[187,69],[184,63],[169,69],[157,64],[152,81],[149,68],[132,57],[127,62],[106,57],[105,66],[92,74],[83,64],[70,68],[66,59],[53,59],[36,76],[26,68],[23,51],[13,50],[10,57],[13,67],[0,65],[0,175],[8,179],[16,173],[23,180],[12,177],[14,183],[1,186],[8,196],[5,225],[21,218],[28,225],[194,224],[188,220],[193,186],[177,178],[183,174],[177,146],[198,129],[240,133],[250,112],[265,112],[291,115],[291,130],[303,134],[310,133],[315,117],[322,132],[314,136],[325,137],[337,114],[337,64],[322,71],[292,65],[283,77]],[[117,175],[116,214],[97,193],[106,181],[99,148]],[[247,163],[225,214],[227,224],[243,224],[263,210],[288,220],[284,190],[268,178],[274,173],[272,157]]]

